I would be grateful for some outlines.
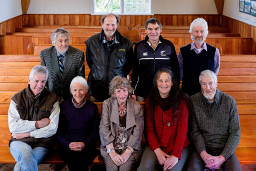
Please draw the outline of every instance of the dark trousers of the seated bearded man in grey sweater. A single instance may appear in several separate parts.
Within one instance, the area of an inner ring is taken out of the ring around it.
[[[222,153],[222,150],[223,148],[206,147],[206,152],[212,156],[220,156],[220,154]],[[206,166],[206,163],[204,163],[204,160],[201,158],[200,154],[198,154],[197,150],[195,150],[194,148],[188,164],[188,171],[207,169],[205,166]],[[221,168],[218,170],[219,171],[222,171],[222,170],[223,171],[241,171],[241,167],[236,155],[232,154],[232,156],[230,156],[229,159],[227,159],[226,162],[224,162]]]

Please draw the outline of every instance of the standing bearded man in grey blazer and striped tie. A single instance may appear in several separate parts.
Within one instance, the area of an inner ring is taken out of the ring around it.
[[[52,47],[40,52],[41,65],[49,71],[46,88],[55,93],[62,102],[71,98],[69,85],[76,76],[85,77],[84,52],[68,46],[70,34],[63,28],[52,33]]]

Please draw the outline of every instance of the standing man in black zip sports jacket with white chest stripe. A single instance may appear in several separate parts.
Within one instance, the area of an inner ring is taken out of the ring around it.
[[[160,68],[170,67],[179,85],[179,62],[175,47],[169,40],[160,35],[162,24],[156,18],[150,18],[145,23],[147,36],[135,45],[134,62],[131,74],[134,94],[132,99],[145,102],[151,88],[153,78]]]

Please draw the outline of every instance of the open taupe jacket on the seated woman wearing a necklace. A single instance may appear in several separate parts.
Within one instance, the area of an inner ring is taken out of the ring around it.
[[[118,102],[111,97],[103,102],[102,119],[100,121],[100,153],[108,157],[106,145],[112,143],[118,133],[119,112]],[[144,115],[141,105],[135,100],[127,99],[127,145],[134,148],[135,162],[142,155],[141,140],[143,137]],[[114,143],[114,142],[113,142]],[[115,145],[115,144],[114,144]]]

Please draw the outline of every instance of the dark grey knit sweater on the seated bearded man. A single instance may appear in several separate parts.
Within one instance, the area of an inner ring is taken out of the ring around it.
[[[223,148],[220,155],[227,160],[240,141],[241,129],[235,99],[217,88],[211,111],[201,92],[191,97],[191,107],[191,138],[198,153],[206,150],[206,147]]]

